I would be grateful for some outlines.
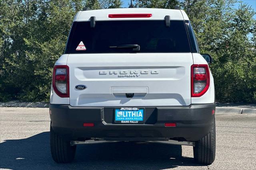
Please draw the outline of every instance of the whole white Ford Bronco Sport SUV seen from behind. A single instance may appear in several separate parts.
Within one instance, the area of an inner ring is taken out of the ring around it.
[[[86,140],[192,145],[215,158],[214,81],[183,10],[79,11],[50,95],[50,146],[71,162]]]

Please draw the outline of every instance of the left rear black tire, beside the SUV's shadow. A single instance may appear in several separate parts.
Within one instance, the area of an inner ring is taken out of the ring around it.
[[[68,163],[74,160],[76,146],[71,146],[70,141],[56,134],[50,126],[50,147],[52,159],[57,163]]]

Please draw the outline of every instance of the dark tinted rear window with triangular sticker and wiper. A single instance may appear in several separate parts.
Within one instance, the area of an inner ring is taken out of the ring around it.
[[[82,43],[81,43],[82,42]],[[84,50],[77,50],[84,44]],[[138,44],[140,51],[113,46]],[[65,53],[186,53],[191,52],[184,21],[164,20],[74,22]]]

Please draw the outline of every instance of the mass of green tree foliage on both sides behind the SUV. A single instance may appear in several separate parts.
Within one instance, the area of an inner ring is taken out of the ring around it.
[[[201,53],[214,59],[216,99],[256,101],[255,10],[236,0],[134,0],[136,8],[180,6]],[[121,0],[0,0],[0,101],[48,101],[52,68],[77,11],[120,8]]]

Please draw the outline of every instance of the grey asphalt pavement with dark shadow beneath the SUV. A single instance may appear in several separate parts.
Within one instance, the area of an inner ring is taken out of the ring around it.
[[[256,169],[256,115],[216,113],[216,159],[196,164],[192,146],[166,142],[95,142],[79,145],[74,162],[50,154],[48,108],[0,107],[1,169]]]

